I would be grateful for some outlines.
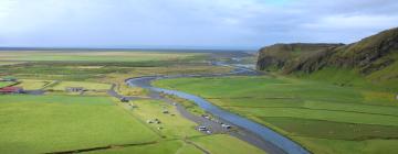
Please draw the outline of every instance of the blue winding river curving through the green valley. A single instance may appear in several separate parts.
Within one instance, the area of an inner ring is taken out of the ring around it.
[[[177,75],[177,76],[148,76],[148,77],[138,77],[138,78],[130,78],[127,80],[129,86],[137,86],[145,89],[148,89],[153,92],[165,92],[168,95],[175,95],[180,98],[191,100],[197,103],[200,108],[208,111],[209,113],[218,117],[224,121],[228,121],[239,128],[242,128],[251,133],[255,134],[256,136],[261,138],[262,140],[272,143],[274,146],[277,146],[284,153],[289,154],[308,154],[310,152],[302,147],[300,144],[291,141],[290,139],[279,134],[277,132],[253,122],[247,118],[241,116],[231,113],[227,110],[223,110],[211,102],[205,100],[195,95],[190,95],[187,92],[178,91],[178,90],[169,90],[159,87],[154,87],[150,82],[157,79],[166,79],[166,78],[180,78],[180,77],[216,77],[216,76],[229,76],[229,75],[256,75],[255,70],[244,68],[244,67],[235,67],[232,73],[229,74],[217,74],[217,75]]]

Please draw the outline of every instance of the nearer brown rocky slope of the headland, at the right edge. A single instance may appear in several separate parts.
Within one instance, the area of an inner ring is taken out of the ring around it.
[[[328,65],[355,67],[363,74],[369,74],[392,64],[396,59],[389,56],[396,53],[398,53],[398,28],[336,48],[335,54],[328,58]]]

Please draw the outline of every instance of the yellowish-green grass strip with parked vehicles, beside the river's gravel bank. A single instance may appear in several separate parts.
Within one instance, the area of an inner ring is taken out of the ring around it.
[[[263,151],[227,134],[206,135],[195,130],[196,123],[181,117],[175,106],[158,100],[138,100],[135,108],[121,103],[134,117],[157,132],[163,140],[155,144],[95,151],[91,153],[148,153],[148,154],[196,154],[203,153],[199,146],[212,154],[262,154]],[[161,111],[168,110],[165,114]],[[174,116],[171,116],[174,114]],[[147,120],[158,119],[159,124],[147,123]],[[157,128],[163,128],[157,130]],[[196,145],[196,146],[195,146]]]

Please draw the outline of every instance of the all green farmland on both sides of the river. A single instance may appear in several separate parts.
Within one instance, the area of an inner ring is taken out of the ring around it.
[[[0,131],[0,152],[49,153],[102,147],[88,153],[264,153],[229,134],[199,132],[198,123],[186,119],[175,106],[150,99],[147,89],[125,84],[125,79],[132,77],[220,74],[233,69],[210,65],[209,54],[30,54],[32,56],[24,57],[21,53],[6,53],[2,58],[11,65],[0,66],[0,73],[17,78],[17,87],[43,90],[44,95],[0,96],[0,127],[4,128]],[[135,56],[143,58],[134,59]],[[231,59],[220,57],[219,61]],[[251,61],[253,57],[244,58],[244,63]],[[342,86],[335,84],[338,79],[315,79],[320,76],[178,78],[157,80],[154,85],[200,96],[280,132],[313,153],[397,151],[396,94],[366,87],[360,78],[357,79],[360,86]],[[143,99],[122,103],[107,94],[112,85],[119,95]],[[69,87],[82,87],[85,91],[69,92],[65,90]],[[206,113],[184,99],[168,98],[195,116]],[[164,110],[169,113],[163,113]],[[155,119],[160,122],[148,123]]]

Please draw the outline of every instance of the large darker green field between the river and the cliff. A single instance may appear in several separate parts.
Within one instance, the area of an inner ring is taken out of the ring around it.
[[[398,150],[398,101],[383,90],[283,77],[184,78],[155,85],[201,96],[314,153]]]

